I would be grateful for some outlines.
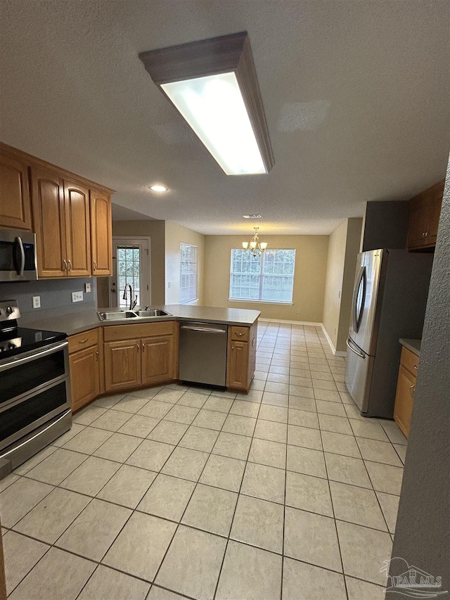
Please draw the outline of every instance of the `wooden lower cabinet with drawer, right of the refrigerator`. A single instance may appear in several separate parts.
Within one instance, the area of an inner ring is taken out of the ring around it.
[[[413,411],[417,366],[418,357],[411,350],[405,347],[402,348],[397,393],[395,395],[394,420],[406,435],[406,438],[409,435],[409,424],[411,423],[411,413]]]

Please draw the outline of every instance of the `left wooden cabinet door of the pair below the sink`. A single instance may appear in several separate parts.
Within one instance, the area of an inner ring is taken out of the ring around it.
[[[141,385],[141,340],[105,343],[105,391]]]

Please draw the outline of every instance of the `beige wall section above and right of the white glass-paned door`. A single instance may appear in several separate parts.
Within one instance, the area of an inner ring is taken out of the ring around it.
[[[165,303],[165,222],[164,221],[113,221],[113,236],[149,236],[151,303]]]

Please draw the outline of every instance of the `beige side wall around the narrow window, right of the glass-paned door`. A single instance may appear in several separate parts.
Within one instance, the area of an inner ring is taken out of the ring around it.
[[[198,246],[198,302],[193,305],[203,305],[204,300],[204,269],[205,269],[205,236],[197,231],[186,229],[179,224],[166,221],[165,225],[165,303],[179,304],[180,293],[180,243]]]

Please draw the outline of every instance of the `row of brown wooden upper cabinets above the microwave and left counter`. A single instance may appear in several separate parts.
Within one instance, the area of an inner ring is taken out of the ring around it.
[[[36,233],[39,279],[113,274],[111,193],[0,142],[0,226]]]

